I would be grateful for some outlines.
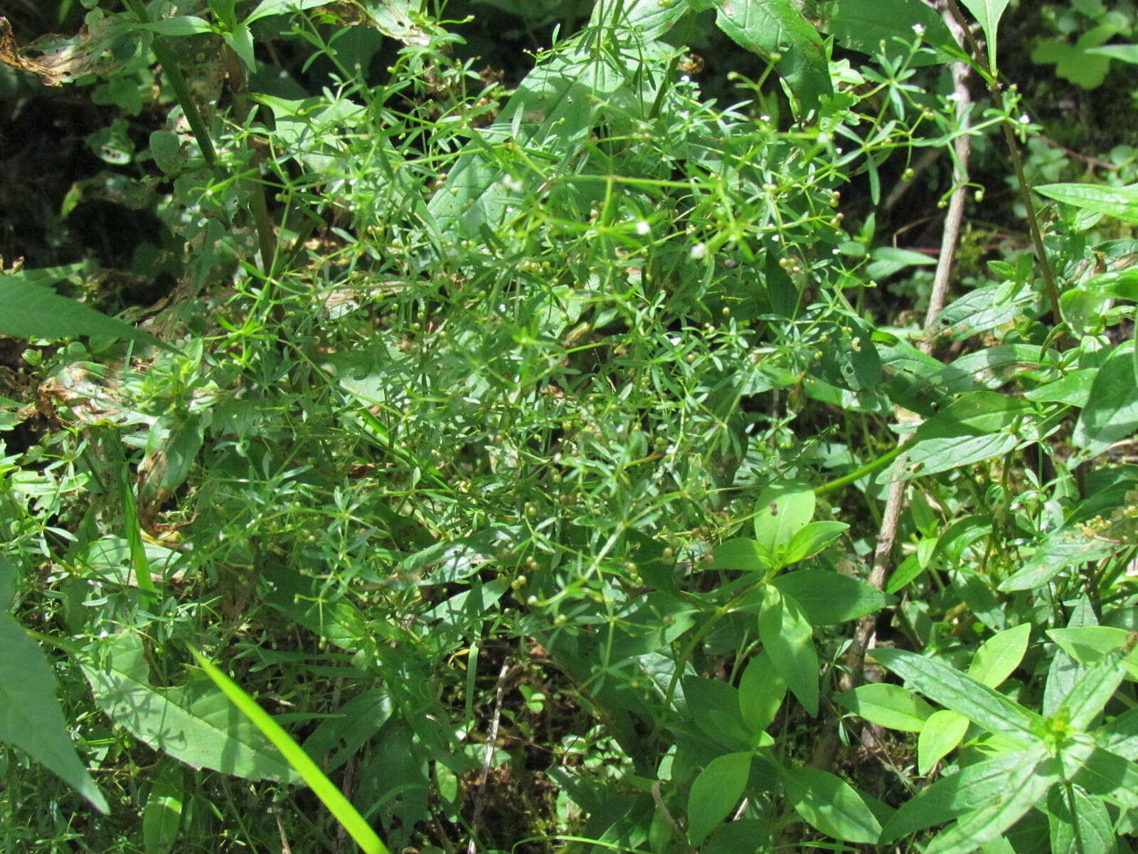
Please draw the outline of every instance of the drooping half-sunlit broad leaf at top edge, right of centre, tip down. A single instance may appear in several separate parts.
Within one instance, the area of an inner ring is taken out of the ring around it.
[[[822,36],[790,0],[715,0],[715,8],[725,35],[775,63],[800,104],[800,117],[833,92]]]

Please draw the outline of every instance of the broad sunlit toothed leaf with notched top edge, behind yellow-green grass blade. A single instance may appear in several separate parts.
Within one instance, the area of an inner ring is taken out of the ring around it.
[[[140,741],[191,767],[249,780],[297,781],[269,740],[208,681],[151,685],[142,641],[133,632],[96,643],[93,652],[81,666],[96,704]]]

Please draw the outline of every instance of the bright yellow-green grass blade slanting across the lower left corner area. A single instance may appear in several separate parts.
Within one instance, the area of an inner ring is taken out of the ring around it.
[[[230,701],[240,709],[241,714],[248,717],[256,725],[265,738],[275,745],[277,749],[291,765],[300,778],[308,785],[316,797],[328,807],[329,812],[336,816],[340,826],[352,835],[356,845],[364,854],[390,854],[382,840],[376,836],[376,831],[369,827],[360,812],[352,806],[352,803],[344,797],[344,793],[336,788],[324,772],[316,766],[308,754],[289,736],[279,723],[257,705],[245,690],[233,680],[222,673],[212,662],[198,652],[192,647],[190,652],[197,659],[201,670],[214,681],[222,692],[229,697]]]

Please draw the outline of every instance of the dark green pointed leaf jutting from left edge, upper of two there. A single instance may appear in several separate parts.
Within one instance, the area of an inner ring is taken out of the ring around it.
[[[52,339],[102,335],[172,350],[152,335],[130,323],[59,296],[51,288],[35,284],[32,277],[36,272],[31,270],[0,274],[0,305],[3,306],[3,312],[0,313],[0,335]]]

